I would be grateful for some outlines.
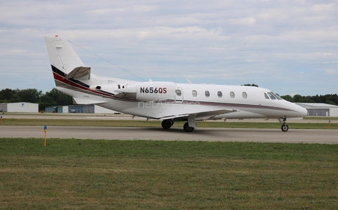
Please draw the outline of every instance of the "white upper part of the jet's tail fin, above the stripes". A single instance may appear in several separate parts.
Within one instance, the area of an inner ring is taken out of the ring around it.
[[[68,74],[79,66],[84,66],[64,37],[44,37],[51,65]]]

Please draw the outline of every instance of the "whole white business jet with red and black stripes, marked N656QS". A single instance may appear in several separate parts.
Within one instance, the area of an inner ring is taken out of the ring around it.
[[[169,129],[175,121],[187,121],[192,132],[196,121],[244,118],[276,118],[282,131],[287,118],[301,118],[306,109],[285,101],[261,87],[197,85],[174,82],[137,82],[94,75],[64,37],[45,37],[56,88],[76,104],[96,104],[106,109],[162,121]]]

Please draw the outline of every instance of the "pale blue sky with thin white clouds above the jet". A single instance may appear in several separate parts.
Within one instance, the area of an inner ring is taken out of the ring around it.
[[[338,93],[338,1],[1,1],[0,89],[55,87],[44,36],[138,82]]]

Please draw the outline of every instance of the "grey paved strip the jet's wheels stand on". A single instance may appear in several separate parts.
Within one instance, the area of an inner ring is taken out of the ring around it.
[[[44,138],[44,126],[0,126],[1,137]],[[125,128],[125,127],[80,127],[49,126],[48,138],[75,138],[93,140],[180,140],[210,142],[290,142],[337,144],[338,130],[292,129],[239,129],[239,128],[198,128],[184,132],[182,128]]]

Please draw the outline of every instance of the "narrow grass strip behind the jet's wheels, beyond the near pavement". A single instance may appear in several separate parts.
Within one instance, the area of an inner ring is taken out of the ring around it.
[[[175,122],[174,128],[182,128],[185,122]],[[27,119],[4,118],[1,125],[54,125],[54,126],[98,126],[98,127],[158,127],[161,121],[137,120],[90,120],[90,119]],[[338,123],[287,123],[292,129],[338,129]],[[197,122],[199,128],[280,128],[280,123],[273,121],[257,122]]]

